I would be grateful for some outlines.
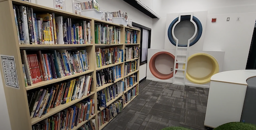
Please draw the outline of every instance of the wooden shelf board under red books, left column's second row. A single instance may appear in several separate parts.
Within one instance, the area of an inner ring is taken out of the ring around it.
[[[26,89],[28,91],[28,90],[31,90],[31,89],[34,89],[34,88],[47,86],[47,85],[58,83],[58,82],[61,82],[61,81],[67,80],[67,79],[71,79],[71,78],[74,78],[74,77],[77,77],[77,76],[85,75],[85,74],[91,73],[93,71],[94,70],[87,70],[87,71],[82,72],[82,73],[72,74],[72,75],[68,75],[68,76],[62,77],[62,78],[42,81],[42,82],[33,84],[32,86],[28,86],[28,87],[26,87]]]

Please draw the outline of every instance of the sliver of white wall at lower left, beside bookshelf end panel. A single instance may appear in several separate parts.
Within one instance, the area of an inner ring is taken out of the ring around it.
[[[11,130],[11,123],[8,115],[8,109],[3,91],[3,82],[0,74],[0,130]]]

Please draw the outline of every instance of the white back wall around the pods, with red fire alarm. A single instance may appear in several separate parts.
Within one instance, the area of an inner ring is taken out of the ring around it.
[[[207,10],[203,49],[225,51],[223,71],[245,69],[256,20],[249,12],[256,12],[256,0],[162,0],[161,5],[160,20],[153,20],[151,48],[164,48],[166,14]]]

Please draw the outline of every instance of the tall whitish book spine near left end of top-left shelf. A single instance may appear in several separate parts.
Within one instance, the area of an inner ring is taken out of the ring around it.
[[[30,44],[30,33],[28,26],[28,16],[27,16],[27,7],[20,6],[20,15],[21,15],[21,23],[22,23],[22,32],[23,32],[23,40],[25,44]]]

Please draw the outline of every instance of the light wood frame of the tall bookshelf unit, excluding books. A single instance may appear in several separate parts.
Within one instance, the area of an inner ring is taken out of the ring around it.
[[[93,33],[93,44],[19,44],[18,41],[18,35],[17,35],[17,29],[15,25],[15,17],[14,17],[14,11],[13,11],[13,5],[24,5],[24,6],[29,6],[32,7],[35,13],[55,13],[56,16],[63,16],[64,18],[72,18],[72,19],[77,19],[77,20],[85,20],[85,21],[92,21],[92,31],[95,32],[95,23],[103,23],[107,25],[112,25],[112,26],[117,26],[121,28],[121,43],[119,44],[96,44],[95,43],[95,34]],[[91,99],[95,100],[95,113],[93,116],[89,118],[96,119],[96,130],[102,130],[108,122],[103,124],[102,126],[98,127],[97,123],[97,113],[99,113],[101,110],[104,108],[100,108],[100,110],[97,110],[97,91],[104,89],[106,87],[111,86],[114,83],[111,84],[105,84],[101,87],[96,87],[96,71],[103,69],[103,68],[108,68],[111,66],[115,65],[122,65],[122,78],[116,79],[115,83],[118,81],[124,81],[125,77],[128,77],[129,75],[132,75],[134,73],[137,73],[137,83],[135,83],[132,87],[128,87],[127,90],[123,92],[122,95],[119,95],[118,97],[112,99],[109,101],[106,105],[110,105],[115,100],[117,100],[119,97],[124,97],[124,94],[128,92],[133,87],[138,86],[138,81],[139,81],[139,66],[138,69],[134,72],[128,73],[128,75],[124,75],[124,66],[126,62],[138,60],[139,58],[131,59],[128,61],[124,61],[122,63],[115,63],[112,65],[105,65],[102,67],[96,67],[96,47],[110,47],[110,46],[118,46],[120,49],[125,49],[126,46],[138,46],[140,47],[140,30],[135,29],[135,28],[130,28],[130,27],[125,27],[119,24],[111,23],[111,22],[105,22],[101,20],[96,20],[80,15],[76,15],[73,13],[65,12],[62,10],[58,9],[53,9],[37,4],[33,4],[30,2],[22,1],[22,0],[0,0],[0,55],[7,55],[7,56],[13,56],[15,58],[15,64],[16,64],[16,72],[17,72],[17,78],[18,78],[18,84],[19,84],[19,89],[13,88],[13,87],[8,87],[5,85],[5,80],[4,80],[4,73],[3,70],[0,69],[1,75],[2,75],[2,85],[5,93],[5,98],[6,98],[6,103],[7,103],[7,108],[8,108],[8,115],[10,119],[10,124],[11,124],[11,129],[12,130],[32,130],[32,125],[46,119],[47,117],[50,117],[54,115],[55,113],[68,108],[69,106],[74,105],[75,103],[86,99],[90,97]],[[137,41],[138,43],[135,44],[127,44],[125,43],[125,30],[126,29],[131,29],[131,30],[136,30],[137,31]],[[40,50],[40,49],[61,49],[61,48],[86,48],[89,53],[89,63],[90,63],[90,69],[82,72],[82,73],[77,73],[73,74],[70,76],[65,76],[62,78],[58,79],[53,79],[49,81],[42,81],[36,84],[33,84],[32,86],[25,87],[24,83],[24,74],[23,74],[23,68],[22,68],[22,59],[21,59],[21,51],[24,49],[29,49],[29,50]],[[139,64],[138,64],[139,65]],[[0,64],[0,67],[2,68],[2,65]],[[35,88],[43,88],[47,85],[52,85],[54,83],[59,83],[64,80],[68,80],[71,78],[75,78],[81,75],[89,74],[92,73],[93,75],[93,82],[92,82],[92,87],[91,87],[91,94],[88,96],[83,96],[81,99],[75,99],[69,103],[60,105],[56,108],[50,108],[49,112],[46,114],[42,115],[41,118],[35,117],[35,118],[30,118],[30,110],[29,110],[29,105],[28,105],[28,98],[27,98],[27,91],[35,89]],[[138,93],[137,93],[138,95]],[[137,96],[136,95],[136,96]],[[136,97],[135,96],[135,97]],[[135,98],[133,97],[132,100]],[[132,101],[131,100],[131,101]],[[130,102],[126,103],[123,105],[123,108],[125,108]],[[113,119],[113,118],[112,118]],[[111,119],[111,120],[112,120]],[[110,120],[110,121],[111,121]],[[87,120],[88,121],[88,120]],[[72,130],[77,130],[81,126],[83,126],[87,121],[83,121],[78,124],[78,126],[74,127]]]

